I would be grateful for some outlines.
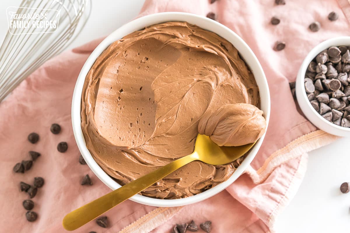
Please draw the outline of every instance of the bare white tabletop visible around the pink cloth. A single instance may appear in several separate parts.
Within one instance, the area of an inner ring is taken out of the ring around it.
[[[144,0],[92,1],[90,19],[69,48],[110,34],[137,16],[144,2]],[[6,8],[19,6],[20,2],[20,0],[1,0],[1,39],[8,30]],[[350,192],[342,194],[339,191],[342,182],[350,181],[349,139],[339,139],[309,153],[304,180],[294,199],[277,219],[276,232],[350,232]]]

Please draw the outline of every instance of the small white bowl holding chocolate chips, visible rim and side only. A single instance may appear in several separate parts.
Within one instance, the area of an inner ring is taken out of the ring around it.
[[[321,51],[328,49],[330,46],[340,46],[346,45],[350,46],[350,37],[341,36],[332,39],[328,39],[318,44],[313,48],[309,54],[304,59],[301,64],[300,70],[296,77],[295,82],[295,93],[296,98],[299,103],[300,109],[303,111],[304,115],[313,123],[317,128],[337,136],[350,136],[350,128],[345,128],[333,124],[326,119],[324,119],[318,112],[312,107],[310,101],[307,98],[304,86],[304,78],[308,65]]]

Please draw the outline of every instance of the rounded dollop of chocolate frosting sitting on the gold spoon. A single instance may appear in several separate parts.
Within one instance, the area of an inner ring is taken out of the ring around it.
[[[258,140],[266,131],[264,112],[248,103],[224,104],[207,111],[198,132],[210,136],[219,146],[241,146]]]

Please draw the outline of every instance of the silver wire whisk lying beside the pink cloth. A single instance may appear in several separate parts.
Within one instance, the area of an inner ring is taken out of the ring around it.
[[[23,79],[75,39],[90,16],[91,0],[22,0],[16,15],[33,12],[40,19],[56,20],[56,28],[21,28],[15,24],[9,28],[0,48],[0,102]],[[53,13],[46,15],[46,12]]]

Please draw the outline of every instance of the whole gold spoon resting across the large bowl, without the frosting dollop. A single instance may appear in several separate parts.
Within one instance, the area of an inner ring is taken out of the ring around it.
[[[63,218],[63,227],[68,231],[76,230],[187,163],[199,160],[210,165],[223,165],[235,161],[247,153],[254,144],[255,142],[243,146],[218,146],[208,136],[198,134],[195,150],[192,154],[177,159],[109,194],[73,210]]]

